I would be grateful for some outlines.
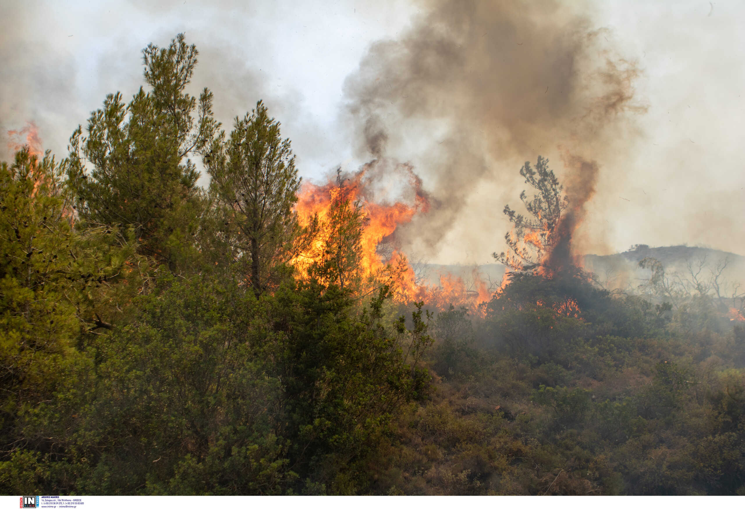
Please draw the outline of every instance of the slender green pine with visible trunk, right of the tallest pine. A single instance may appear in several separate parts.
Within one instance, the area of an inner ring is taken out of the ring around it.
[[[211,188],[235,223],[235,258],[256,295],[276,286],[286,263],[307,239],[293,206],[302,179],[297,176],[289,139],[282,140],[279,121],[259,101],[226,140],[222,132],[204,158]]]

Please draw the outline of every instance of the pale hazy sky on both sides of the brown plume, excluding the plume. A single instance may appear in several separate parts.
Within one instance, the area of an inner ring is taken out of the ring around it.
[[[302,176],[318,179],[338,164],[354,169],[370,157],[355,146],[349,83],[364,79],[360,65],[375,42],[421,30],[437,1],[151,3],[1,2],[1,132],[34,121],[45,147],[66,155],[69,135],[107,93],[128,97],[142,84],[142,48],[186,32],[200,50],[194,88],[212,89],[226,127],[261,98],[291,138]],[[589,20],[588,31],[606,29],[600,36],[615,58],[635,64],[633,98],[646,109],[627,131],[614,131],[612,150],[597,160],[582,245],[600,254],[634,243],[745,254],[745,4],[623,0],[567,2],[567,9]],[[433,186],[442,178],[431,165],[442,129],[429,121],[392,141],[390,156],[410,160],[425,189],[428,176]],[[508,229],[501,210],[516,205],[524,188],[518,161],[553,156],[561,174],[557,143],[545,139],[514,161],[490,159],[491,177],[475,185],[437,246],[422,254],[440,263],[488,263]]]

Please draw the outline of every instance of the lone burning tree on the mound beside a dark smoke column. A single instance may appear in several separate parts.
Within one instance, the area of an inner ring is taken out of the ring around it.
[[[568,199],[562,195],[559,179],[548,169],[548,159],[538,156],[535,168],[525,161],[520,175],[537,191],[532,198],[525,191],[520,193],[530,215],[518,214],[510,205],[504,205],[504,214],[513,223],[513,228],[504,235],[508,251],[492,255],[510,269],[540,272],[561,240],[562,212],[568,207]]]

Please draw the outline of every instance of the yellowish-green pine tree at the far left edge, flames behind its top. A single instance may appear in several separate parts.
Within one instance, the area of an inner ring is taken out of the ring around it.
[[[85,337],[112,329],[112,284],[133,253],[106,228],[72,228],[67,161],[28,148],[0,166],[0,451],[23,445],[16,413],[50,400],[86,364]],[[123,304],[123,303],[122,303]],[[115,307],[115,306],[112,306]],[[48,435],[44,435],[45,437]]]

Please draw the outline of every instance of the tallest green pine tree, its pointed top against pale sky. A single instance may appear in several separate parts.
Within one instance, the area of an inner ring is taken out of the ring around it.
[[[188,228],[188,206],[198,205],[199,173],[189,159],[203,152],[219,125],[212,92],[186,93],[197,48],[179,34],[168,48],[143,50],[145,81],[125,104],[108,95],[93,112],[83,135],[70,138],[69,178],[80,216],[90,223],[132,226],[140,252],[174,265],[180,230]]]

